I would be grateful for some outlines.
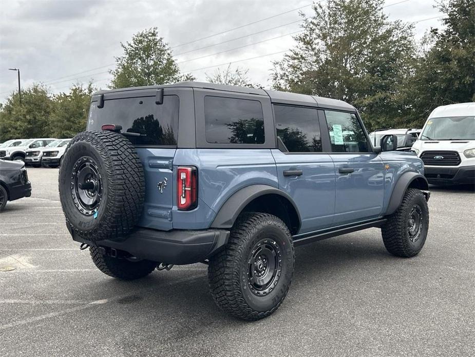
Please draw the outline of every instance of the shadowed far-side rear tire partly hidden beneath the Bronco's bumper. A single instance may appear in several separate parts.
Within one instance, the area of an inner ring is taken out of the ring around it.
[[[121,280],[140,279],[155,270],[157,263],[150,260],[130,261],[113,258],[100,253],[96,247],[89,247],[92,261],[104,274]]]

